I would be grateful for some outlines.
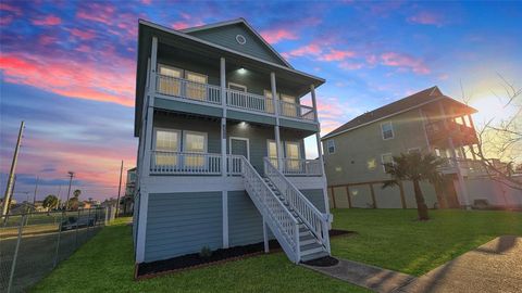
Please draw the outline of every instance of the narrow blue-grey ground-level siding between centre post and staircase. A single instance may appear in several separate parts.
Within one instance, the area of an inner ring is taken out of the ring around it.
[[[263,241],[263,219],[246,191],[228,192],[228,244],[246,245]]]

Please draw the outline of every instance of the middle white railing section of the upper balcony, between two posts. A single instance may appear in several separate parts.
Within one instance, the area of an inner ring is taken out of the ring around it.
[[[272,100],[263,95],[232,89],[226,90],[226,105],[232,107],[274,114],[272,104]]]

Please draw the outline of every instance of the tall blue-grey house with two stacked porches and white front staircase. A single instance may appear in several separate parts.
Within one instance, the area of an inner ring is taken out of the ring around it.
[[[139,21],[136,263],[270,238],[295,263],[328,255],[323,164],[303,143],[320,146],[322,84],[243,18],[183,30]]]

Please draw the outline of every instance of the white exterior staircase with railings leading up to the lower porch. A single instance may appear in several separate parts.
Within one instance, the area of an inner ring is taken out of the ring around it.
[[[290,260],[298,264],[330,255],[327,215],[264,160],[265,178],[241,158],[245,189]]]

